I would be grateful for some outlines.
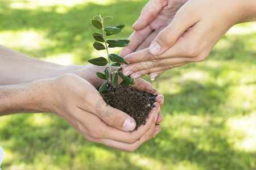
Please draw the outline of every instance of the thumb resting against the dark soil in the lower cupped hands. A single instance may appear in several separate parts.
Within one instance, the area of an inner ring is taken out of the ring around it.
[[[136,127],[135,120],[125,112],[110,107],[103,99],[100,99],[96,104],[96,114],[109,126],[114,128],[132,131]]]

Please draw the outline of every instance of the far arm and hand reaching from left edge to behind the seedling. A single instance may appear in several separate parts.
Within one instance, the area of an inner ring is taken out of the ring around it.
[[[91,83],[96,70],[102,72],[104,68],[93,65],[57,65],[28,57],[0,45],[0,85],[27,83],[65,73],[77,74]]]

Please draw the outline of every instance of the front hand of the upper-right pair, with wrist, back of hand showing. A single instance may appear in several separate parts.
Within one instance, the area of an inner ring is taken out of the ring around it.
[[[149,48],[128,54],[131,64],[124,75],[138,78],[150,73],[151,78],[165,70],[200,62],[234,24],[255,20],[255,1],[190,0],[174,19],[152,41]]]

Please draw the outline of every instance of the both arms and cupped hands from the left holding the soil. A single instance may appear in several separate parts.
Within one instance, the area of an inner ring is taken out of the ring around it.
[[[95,73],[104,70],[93,65],[55,65],[0,46],[0,116],[52,112],[89,141],[135,151],[159,133],[161,128],[157,124],[163,120],[160,114],[163,95],[150,83],[136,80],[134,88],[154,91],[158,97],[146,125],[130,133],[136,126],[133,118],[106,105],[96,90],[104,80]],[[104,114],[97,110],[98,101]]]

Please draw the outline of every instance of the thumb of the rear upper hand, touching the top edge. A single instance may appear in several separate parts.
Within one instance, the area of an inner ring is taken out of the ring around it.
[[[133,24],[134,30],[145,28],[155,19],[160,10],[167,5],[167,1],[150,0],[142,9],[139,19]]]

